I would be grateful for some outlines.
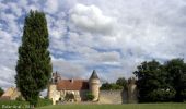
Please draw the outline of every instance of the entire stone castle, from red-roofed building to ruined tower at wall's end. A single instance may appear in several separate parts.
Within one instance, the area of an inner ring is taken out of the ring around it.
[[[92,101],[97,104],[128,104],[138,102],[136,80],[129,78],[127,88],[120,90],[100,90],[101,81],[95,72],[89,80],[61,80],[56,72],[53,73],[50,84],[48,86],[48,98],[53,100],[53,105],[57,101],[84,101],[86,95],[91,93],[94,98]]]

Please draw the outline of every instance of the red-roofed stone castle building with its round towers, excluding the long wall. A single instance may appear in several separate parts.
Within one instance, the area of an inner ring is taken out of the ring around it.
[[[70,101],[83,101],[89,93],[94,96],[93,101],[98,100],[100,78],[95,70],[89,80],[61,80],[57,72],[53,73],[48,86],[48,98],[53,100],[54,105],[67,97]]]

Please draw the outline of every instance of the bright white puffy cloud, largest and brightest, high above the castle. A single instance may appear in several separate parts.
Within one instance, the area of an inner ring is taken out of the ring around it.
[[[70,10],[70,20],[77,27],[91,33],[109,34],[114,29],[114,17],[106,16],[95,5],[77,4]]]

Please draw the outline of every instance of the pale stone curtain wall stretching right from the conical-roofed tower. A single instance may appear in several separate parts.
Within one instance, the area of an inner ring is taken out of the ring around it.
[[[100,104],[126,104],[127,90],[100,90]]]

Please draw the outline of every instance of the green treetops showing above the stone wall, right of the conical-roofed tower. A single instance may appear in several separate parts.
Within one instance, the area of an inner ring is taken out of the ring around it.
[[[116,90],[123,89],[123,86],[117,85],[115,83],[103,83],[101,86],[101,90]]]

